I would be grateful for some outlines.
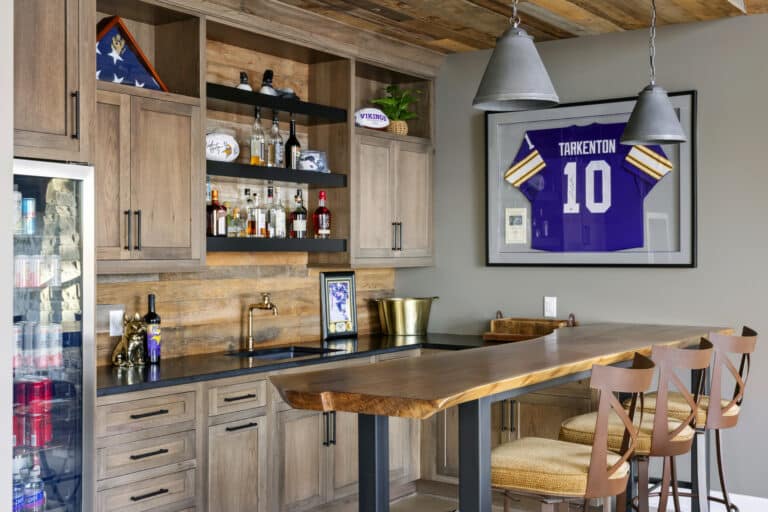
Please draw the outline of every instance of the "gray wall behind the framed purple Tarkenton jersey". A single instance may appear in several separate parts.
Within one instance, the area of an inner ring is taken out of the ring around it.
[[[543,43],[542,58],[572,102],[635,95],[648,80],[647,32]],[[542,296],[582,321],[740,326],[768,332],[768,16],[665,27],[659,83],[696,89],[696,269],[486,268],[483,116],[471,108],[490,55],[451,56],[437,84],[436,265],[397,273],[402,295],[439,295],[433,332],[482,332],[497,309],[541,316]],[[726,434],[732,492],[768,497],[768,348],[753,365],[749,400]]]

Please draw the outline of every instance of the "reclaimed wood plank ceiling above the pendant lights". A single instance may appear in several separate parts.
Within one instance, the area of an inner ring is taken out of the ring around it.
[[[501,0],[282,0],[360,30],[441,53],[492,48],[512,14]],[[768,12],[768,0],[657,0],[659,24]],[[521,0],[537,41],[647,27],[650,0]]]

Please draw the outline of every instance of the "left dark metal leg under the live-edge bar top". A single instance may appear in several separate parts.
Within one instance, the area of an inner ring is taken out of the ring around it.
[[[389,417],[357,415],[360,512],[389,512]]]

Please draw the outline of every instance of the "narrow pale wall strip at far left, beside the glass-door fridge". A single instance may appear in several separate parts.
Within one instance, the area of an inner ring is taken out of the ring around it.
[[[13,235],[10,211],[13,207],[11,164],[13,158],[13,2],[0,2],[0,205],[3,205],[3,222],[0,222],[0,439],[11,439],[11,415],[13,407],[11,379],[11,315],[13,311]],[[11,443],[0,442],[0,510],[11,503]]]

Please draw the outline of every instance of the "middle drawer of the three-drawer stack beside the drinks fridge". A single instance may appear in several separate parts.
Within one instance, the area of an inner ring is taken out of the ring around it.
[[[96,451],[96,478],[103,480],[195,458],[195,431],[178,432]]]

